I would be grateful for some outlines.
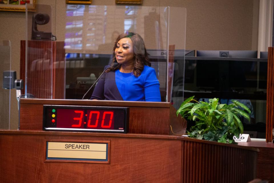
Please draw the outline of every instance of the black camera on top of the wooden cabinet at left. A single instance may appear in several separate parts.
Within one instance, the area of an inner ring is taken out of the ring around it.
[[[37,25],[46,25],[47,23],[49,23],[49,20],[50,20],[50,17],[47,13],[38,13],[32,16],[32,30],[31,30],[32,40],[45,40],[45,41],[56,40],[56,37],[52,35],[51,32],[39,31],[37,29]]]

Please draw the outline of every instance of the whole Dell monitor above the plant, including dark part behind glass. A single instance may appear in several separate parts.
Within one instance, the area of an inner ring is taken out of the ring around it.
[[[256,88],[257,80],[254,78],[257,78],[257,61],[241,61],[241,58],[257,58],[257,51],[197,50],[197,56],[218,58],[223,52],[239,60],[197,60],[196,86],[221,92],[231,88]]]

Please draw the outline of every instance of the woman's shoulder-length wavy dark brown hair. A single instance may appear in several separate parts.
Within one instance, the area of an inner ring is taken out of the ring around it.
[[[148,53],[146,52],[146,47],[143,38],[134,32],[127,32],[120,34],[116,41],[112,52],[112,67],[106,70],[106,72],[113,71],[116,69],[120,69],[121,64],[119,64],[116,67],[113,67],[113,63],[117,62],[115,57],[115,49],[118,41],[122,38],[129,37],[132,41],[133,45],[133,52],[134,52],[134,68],[133,68],[133,74],[138,77],[141,72],[144,70],[144,66],[148,65],[151,66],[151,63],[149,62]]]

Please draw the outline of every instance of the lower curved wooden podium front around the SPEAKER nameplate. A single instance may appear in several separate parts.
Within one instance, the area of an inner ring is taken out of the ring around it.
[[[110,164],[45,162],[45,141],[110,141]],[[192,138],[0,130],[0,182],[249,182],[257,149]]]

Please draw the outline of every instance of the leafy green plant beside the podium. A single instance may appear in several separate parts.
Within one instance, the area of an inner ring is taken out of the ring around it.
[[[229,105],[219,104],[218,98],[198,102],[192,96],[182,103],[176,114],[195,121],[195,125],[188,131],[189,137],[232,144],[235,143],[233,136],[239,137],[243,133],[239,116],[250,121],[251,112],[237,100],[231,101],[233,103]]]

